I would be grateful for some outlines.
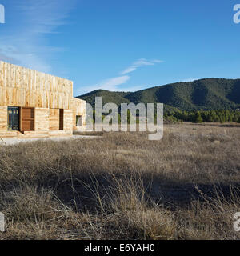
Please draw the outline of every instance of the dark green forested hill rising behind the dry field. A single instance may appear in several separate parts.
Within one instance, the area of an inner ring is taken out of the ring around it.
[[[95,97],[102,103],[125,102],[164,103],[168,110],[234,110],[240,107],[240,79],[207,78],[194,82],[177,82],[131,92],[94,90],[78,96],[94,105]]]

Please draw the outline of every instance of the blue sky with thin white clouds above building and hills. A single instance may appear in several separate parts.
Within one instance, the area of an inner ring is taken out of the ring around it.
[[[240,0],[0,0],[0,59],[91,90],[239,78]]]

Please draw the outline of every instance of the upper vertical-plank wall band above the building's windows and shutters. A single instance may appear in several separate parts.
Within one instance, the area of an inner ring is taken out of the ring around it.
[[[71,109],[73,82],[0,62],[0,106]]]

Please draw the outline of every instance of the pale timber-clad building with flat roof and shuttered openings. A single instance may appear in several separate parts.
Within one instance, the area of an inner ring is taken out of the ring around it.
[[[0,138],[70,136],[85,120],[73,82],[0,62]]]

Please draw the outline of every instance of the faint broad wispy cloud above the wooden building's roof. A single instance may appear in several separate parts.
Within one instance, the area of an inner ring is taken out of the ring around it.
[[[1,27],[0,59],[34,70],[50,72],[50,57],[62,48],[51,47],[46,34],[65,24],[76,0],[13,0],[12,20]]]

